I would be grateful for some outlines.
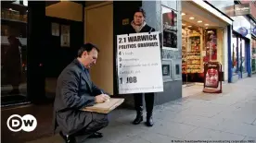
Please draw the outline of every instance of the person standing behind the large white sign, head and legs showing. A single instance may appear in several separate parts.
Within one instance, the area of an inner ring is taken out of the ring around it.
[[[131,22],[128,27],[125,28],[125,33],[139,33],[139,32],[151,32],[155,29],[147,25],[146,13],[142,8],[134,11],[134,20]],[[153,125],[152,113],[154,107],[154,93],[145,93],[146,109],[147,109],[147,126]],[[138,125],[143,121],[143,101],[142,93],[134,94],[134,106],[136,110],[136,118],[134,119],[133,124]]]

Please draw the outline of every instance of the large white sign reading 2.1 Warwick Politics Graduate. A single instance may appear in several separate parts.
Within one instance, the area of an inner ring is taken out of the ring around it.
[[[117,66],[120,94],[163,91],[159,32],[118,35]]]

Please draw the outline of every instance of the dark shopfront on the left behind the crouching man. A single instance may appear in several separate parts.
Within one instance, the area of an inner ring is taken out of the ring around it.
[[[83,43],[83,3],[1,1],[1,107],[53,101],[59,72]],[[60,45],[65,26],[70,28],[69,46]],[[16,44],[8,41],[11,35]],[[50,84],[48,77],[54,79]]]

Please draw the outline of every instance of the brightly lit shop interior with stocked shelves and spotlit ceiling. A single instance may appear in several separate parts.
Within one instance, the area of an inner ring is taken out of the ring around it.
[[[182,2],[183,84],[204,81],[204,63],[224,64],[224,27],[219,18],[191,2]]]

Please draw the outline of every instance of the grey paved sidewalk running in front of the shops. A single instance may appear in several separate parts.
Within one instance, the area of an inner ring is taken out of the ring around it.
[[[222,94],[203,93],[202,86],[183,89],[184,98],[156,106],[155,125],[132,125],[134,111],[116,110],[103,138],[81,143],[175,143],[175,140],[254,140],[256,142],[256,77],[224,84]],[[170,95],[172,96],[172,95]],[[58,135],[28,143],[62,143]]]

